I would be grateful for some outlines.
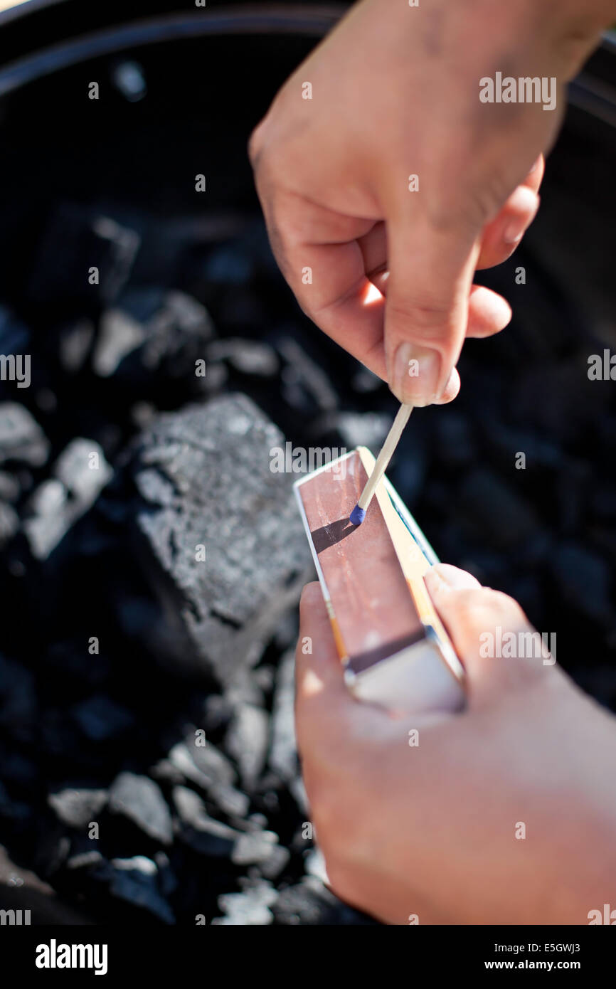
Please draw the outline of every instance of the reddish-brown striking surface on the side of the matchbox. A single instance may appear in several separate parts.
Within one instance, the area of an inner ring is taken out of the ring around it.
[[[424,633],[377,498],[361,525],[349,521],[367,481],[359,454],[343,467],[309,478],[300,493],[346,654],[358,673]]]

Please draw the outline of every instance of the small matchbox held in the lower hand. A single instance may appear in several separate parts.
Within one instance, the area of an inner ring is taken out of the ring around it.
[[[387,478],[349,520],[374,464],[358,447],[294,486],[346,683],[390,709],[458,710],[464,669],[423,582],[432,547]]]

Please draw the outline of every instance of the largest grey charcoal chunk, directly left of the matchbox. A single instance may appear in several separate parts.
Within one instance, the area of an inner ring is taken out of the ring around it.
[[[293,477],[270,470],[283,444],[244,396],[161,415],[141,436],[134,528],[170,629],[159,657],[176,672],[229,682],[297,600],[308,547]]]

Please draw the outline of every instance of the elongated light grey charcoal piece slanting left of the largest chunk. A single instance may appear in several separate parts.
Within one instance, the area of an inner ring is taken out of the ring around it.
[[[113,471],[98,443],[79,438],[59,455],[52,475],[31,496],[24,522],[33,556],[39,560],[49,556],[91,507]]]

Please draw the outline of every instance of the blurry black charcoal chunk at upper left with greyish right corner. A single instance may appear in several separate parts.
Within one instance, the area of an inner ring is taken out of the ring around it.
[[[61,251],[58,253],[58,244]],[[38,306],[96,312],[126,284],[139,234],[87,206],[60,203],[50,213],[33,262],[28,296]],[[98,276],[91,273],[98,269]]]

